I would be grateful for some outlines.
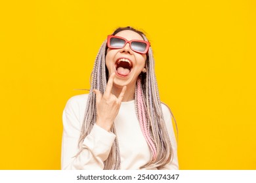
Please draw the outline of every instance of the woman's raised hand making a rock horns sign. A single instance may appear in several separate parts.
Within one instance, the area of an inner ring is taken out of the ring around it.
[[[118,97],[111,93],[115,75],[116,73],[112,73],[108,79],[106,91],[103,95],[100,91],[93,90],[96,94],[96,124],[103,129],[106,129],[106,131],[110,131],[110,128],[114,123],[127,88],[126,86],[123,86]]]

